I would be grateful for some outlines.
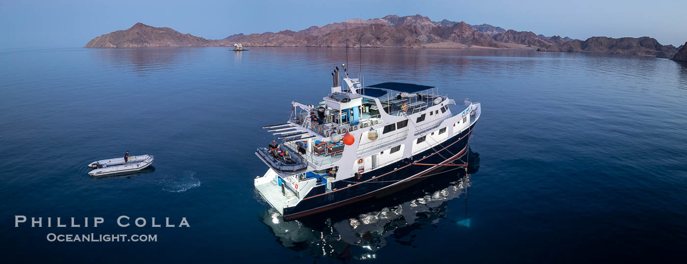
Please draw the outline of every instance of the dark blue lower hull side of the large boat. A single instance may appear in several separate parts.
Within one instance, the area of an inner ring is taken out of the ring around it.
[[[415,154],[413,160],[400,160],[374,171],[363,173],[360,179],[353,177],[333,182],[332,189],[334,191],[327,193],[324,185],[314,187],[296,206],[284,208],[284,219],[304,217],[370,197],[387,195],[418,182],[421,179],[420,176],[426,175],[430,171],[446,169],[444,166],[414,165],[412,163],[446,164],[460,158],[467,152],[468,141],[474,126],[473,123],[468,130],[456,134],[433,149]]]

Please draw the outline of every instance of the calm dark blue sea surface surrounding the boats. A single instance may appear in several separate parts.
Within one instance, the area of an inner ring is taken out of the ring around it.
[[[360,58],[350,49],[350,72],[361,61],[365,84],[413,82],[482,102],[470,175],[449,171],[285,223],[253,187],[267,170],[254,149],[272,139],[260,127],[283,123],[292,100],[322,101],[346,57],[324,48],[0,52],[0,262],[682,259],[687,67],[643,56],[363,49]],[[127,150],[154,154],[154,168],[88,176],[88,163]],[[14,215],[105,222],[15,228]],[[148,226],[122,228],[120,215]],[[150,227],[151,217],[186,217],[190,227]],[[157,242],[46,238],[91,232]]]

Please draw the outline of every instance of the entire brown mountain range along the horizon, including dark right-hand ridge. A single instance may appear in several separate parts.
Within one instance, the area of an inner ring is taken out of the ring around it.
[[[182,34],[168,27],[136,23],[93,38],[85,47],[404,47],[446,49],[525,49],[539,51],[589,51],[627,53],[671,58],[677,49],[655,39],[592,37],[585,41],[561,36],[545,37],[493,25],[431,21],[427,16],[388,15],[379,19],[350,19],[341,23],[313,26],[298,32],[234,34],[221,40]]]

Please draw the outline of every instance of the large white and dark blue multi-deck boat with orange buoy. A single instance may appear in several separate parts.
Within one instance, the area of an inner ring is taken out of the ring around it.
[[[480,103],[456,104],[433,86],[363,87],[338,67],[332,75],[323,101],[292,101],[286,123],[263,127],[280,143],[256,151],[269,169],[254,184],[284,219],[387,195],[463,163],[454,164],[468,151]]]

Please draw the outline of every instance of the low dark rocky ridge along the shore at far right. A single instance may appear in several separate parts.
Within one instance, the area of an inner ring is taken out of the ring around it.
[[[563,45],[548,45],[539,47],[538,51],[568,51],[568,52],[605,52],[633,55],[657,56],[660,58],[671,58],[677,53],[677,48],[673,45],[661,45],[654,38],[643,36],[641,38],[608,38],[605,36],[594,36],[587,40],[573,40],[563,43]]]

